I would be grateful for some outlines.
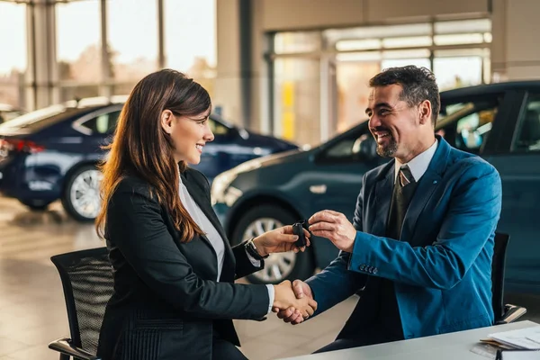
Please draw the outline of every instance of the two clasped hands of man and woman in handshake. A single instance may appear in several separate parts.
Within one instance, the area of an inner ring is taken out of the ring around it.
[[[291,283],[285,280],[275,285],[274,304],[272,311],[277,313],[279,319],[293,325],[307,320],[317,310],[317,302],[313,300],[310,285],[300,280]]]

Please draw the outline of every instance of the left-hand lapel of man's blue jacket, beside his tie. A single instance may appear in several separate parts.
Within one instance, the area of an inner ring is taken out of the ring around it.
[[[371,231],[368,231],[376,236],[386,235],[386,223],[388,222],[388,214],[390,212],[390,203],[392,202],[392,189],[394,183],[394,162],[391,161],[384,177],[375,184],[375,201],[374,201],[374,224]]]

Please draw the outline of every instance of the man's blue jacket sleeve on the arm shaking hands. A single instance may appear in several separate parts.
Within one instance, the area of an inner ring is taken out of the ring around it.
[[[362,213],[365,193],[365,175],[363,186],[360,189],[358,200],[356,201],[355,216],[353,225],[357,231],[362,231]],[[330,263],[318,275],[311,276],[306,281],[311,287],[311,292],[318,303],[316,314],[327,311],[339,302],[343,302],[348,297],[361,290],[365,286],[367,275],[348,270],[351,261],[351,254],[340,251],[338,257]]]

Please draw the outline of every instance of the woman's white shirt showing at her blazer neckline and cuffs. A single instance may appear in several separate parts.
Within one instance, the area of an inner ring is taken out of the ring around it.
[[[214,228],[214,226],[211,224],[211,221],[208,220],[204,212],[202,212],[197,202],[193,200],[192,195],[187,191],[184,183],[182,183],[182,177],[180,177],[180,201],[184,205],[185,210],[191,215],[193,221],[195,221],[195,223],[199,225],[199,228],[201,228],[202,231],[206,234],[206,238],[208,238],[211,246],[216,252],[218,260],[218,278],[216,279],[216,281],[219,282],[221,270],[223,269],[223,261],[225,259],[225,244],[223,242],[223,238],[220,237],[220,233],[216,228]],[[251,257],[247,252],[246,254],[253,266],[261,266],[260,260]],[[270,304],[268,305],[268,312],[270,312],[272,311],[272,304],[274,303],[275,297],[274,286],[266,285],[266,287],[268,288],[268,298],[270,299]]]

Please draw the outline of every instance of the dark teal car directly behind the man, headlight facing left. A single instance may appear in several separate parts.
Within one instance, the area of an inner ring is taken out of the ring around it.
[[[498,230],[509,233],[509,292],[540,293],[540,82],[478,85],[441,93],[436,131],[497,168],[503,200]],[[261,157],[214,179],[212,202],[229,238],[241,241],[331,209],[352,220],[366,171],[378,157],[367,122],[312,148]],[[313,238],[305,253],[273,254],[254,283],[306,278],[338,255]]]

